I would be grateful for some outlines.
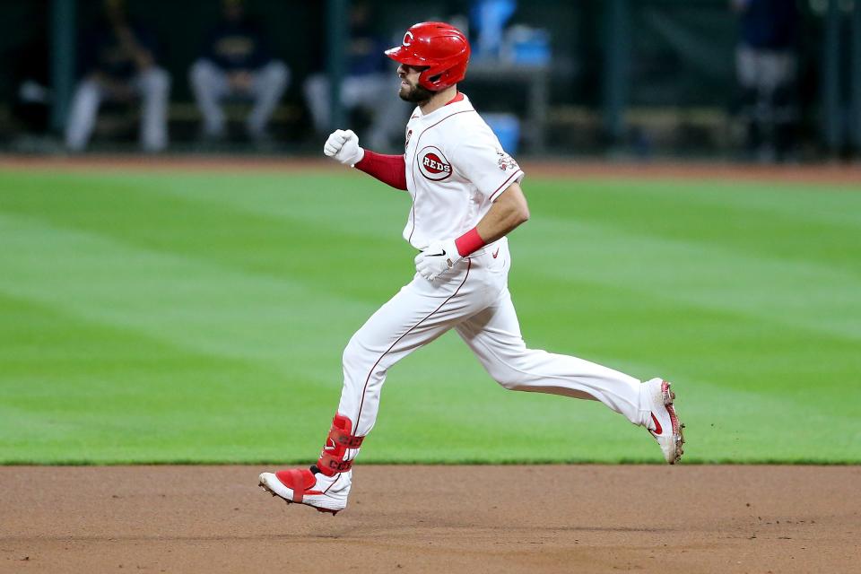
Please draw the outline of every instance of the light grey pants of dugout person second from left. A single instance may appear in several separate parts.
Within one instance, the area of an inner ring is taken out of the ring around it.
[[[269,118],[290,84],[290,68],[279,60],[273,60],[255,70],[251,74],[251,87],[247,94],[233,91],[228,74],[206,59],[197,60],[191,66],[188,78],[195,93],[197,107],[204,116],[206,135],[223,134],[226,118],[221,101],[229,96],[248,96],[254,100],[254,108],[246,121],[246,129],[250,135],[263,135]]]

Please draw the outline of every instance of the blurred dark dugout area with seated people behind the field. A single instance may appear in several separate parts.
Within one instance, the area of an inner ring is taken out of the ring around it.
[[[509,152],[861,155],[858,0],[3,0],[0,150],[316,154],[334,126],[400,149],[381,50],[469,35],[462,87]]]

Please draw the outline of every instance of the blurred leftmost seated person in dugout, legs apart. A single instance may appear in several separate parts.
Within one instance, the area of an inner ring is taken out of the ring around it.
[[[102,19],[83,43],[84,74],[69,109],[66,147],[80,152],[87,146],[103,101],[140,100],[141,146],[163,150],[170,75],[155,63],[152,33],[128,15],[125,0],[105,0]]]

